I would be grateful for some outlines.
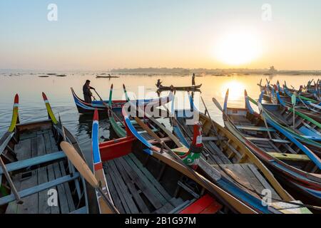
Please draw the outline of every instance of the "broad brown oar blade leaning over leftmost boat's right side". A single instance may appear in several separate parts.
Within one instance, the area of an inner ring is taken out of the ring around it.
[[[113,211],[115,214],[119,214],[118,209],[113,205],[111,202],[111,199],[108,199],[108,197],[104,194],[103,190],[101,189],[101,184],[98,182],[96,177],[93,175],[93,172],[91,172],[91,169],[88,167],[86,162],[82,159],[82,157],[78,154],[78,152],[75,150],[75,148],[66,141],[62,141],[60,143],[61,150],[66,154],[68,157],[68,160],[71,161],[74,167],[78,170],[78,172],[81,173],[83,178],[91,185],[93,188],[98,190],[98,192],[101,194],[105,202],[108,204],[108,207]]]

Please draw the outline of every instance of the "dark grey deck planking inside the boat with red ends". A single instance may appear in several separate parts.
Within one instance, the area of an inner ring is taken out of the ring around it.
[[[103,168],[111,197],[121,213],[163,214],[174,212],[182,204],[188,205],[189,201],[170,197],[133,154],[104,162]]]

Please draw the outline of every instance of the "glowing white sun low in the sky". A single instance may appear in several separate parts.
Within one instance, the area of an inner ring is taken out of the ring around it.
[[[238,31],[226,33],[215,46],[215,57],[230,66],[240,66],[258,58],[260,42],[254,33]]]

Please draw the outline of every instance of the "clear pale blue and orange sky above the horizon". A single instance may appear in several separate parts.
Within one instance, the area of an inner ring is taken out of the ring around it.
[[[51,3],[58,21],[47,19]],[[320,0],[0,0],[0,68],[321,69],[320,9]]]

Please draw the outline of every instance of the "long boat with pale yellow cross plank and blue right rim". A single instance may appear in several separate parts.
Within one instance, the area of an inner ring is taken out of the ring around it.
[[[214,100],[214,99],[213,99]],[[275,177],[301,195],[321,202],[320,158],[272,122],[265,124],[253,112],[245,94],[245,108],[228,108],[228,92],[223,108],[225,127],[269,168]]]

